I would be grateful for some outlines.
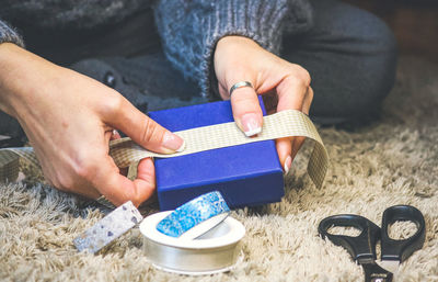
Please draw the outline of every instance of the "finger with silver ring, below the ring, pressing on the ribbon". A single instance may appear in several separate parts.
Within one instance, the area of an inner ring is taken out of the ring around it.
[[[235,89],[231,95],[231,106],[235,123],[246,136],[262,132],[263,113],[253,88]]]

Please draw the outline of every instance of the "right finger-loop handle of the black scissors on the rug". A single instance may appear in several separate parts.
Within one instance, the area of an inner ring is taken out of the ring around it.
[[[388,235],[388,228],[396,221],[415,223],[417,232],[407,239],[394,240]],[[420,211],[411,205],[394,205],[383,212],[382,217],[382,260],[399,260],[403,262],[414,251],[420,249],[425,241],[426,224]]]

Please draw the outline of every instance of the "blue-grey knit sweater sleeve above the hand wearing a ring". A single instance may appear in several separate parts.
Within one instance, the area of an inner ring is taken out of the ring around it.
[[[154,16],[168,59],[210,98],[218,93],[212,55],[221,37],[250,37],[278,54],[284,33],[312,23],[308,0],[160,0]]]

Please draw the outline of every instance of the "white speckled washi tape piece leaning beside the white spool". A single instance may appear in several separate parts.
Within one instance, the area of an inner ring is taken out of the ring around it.
[[[95,253],[142,219],[132,202],[126,202],[76,237],[73,244],[79,251],[89,250]]]

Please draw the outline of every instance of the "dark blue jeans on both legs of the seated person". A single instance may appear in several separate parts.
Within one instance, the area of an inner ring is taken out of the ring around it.
[[[285,35],[280,54],[311,75],[314,100],[310,115],[322,124],[373,119],[394,83],[393,34],[377,16],[349,4],[337,0],[313,0],[312,4],[312,30],[298,36]],[[124,32],[126,37],[126,29]],[[140,56],[108,57],[111,46],[105,46],[104,54],[93,56],[106,57],[80,60],[71,67],[114,87],[143,111],[207,102],[196,97],[199,91],[195,82],[184,80],[172,68],[160,50],[157,36],[151,34],[148,38],[149,44],[157,42],[157,46]],[[74,60],[67,58],[69,54],[57,54],[57,58]],[[115,48],[113,54],[123,55],[123,50]],[[18,136],[22,132],[16,122],[0,113],[0,134]]]

